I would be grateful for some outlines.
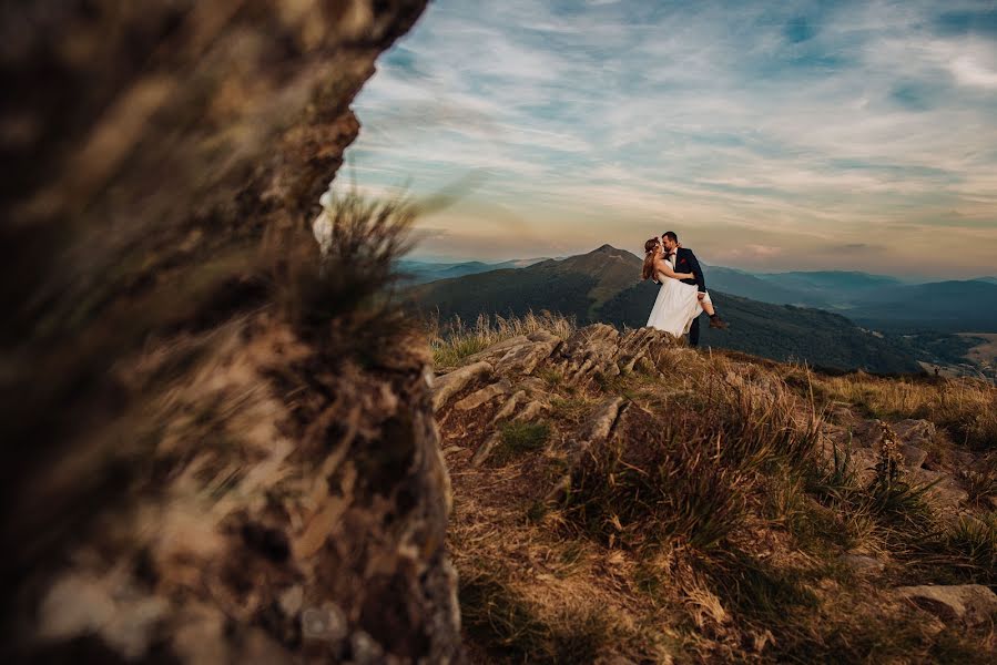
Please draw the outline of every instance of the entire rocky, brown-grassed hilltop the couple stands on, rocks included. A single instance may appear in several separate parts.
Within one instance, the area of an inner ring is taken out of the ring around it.
[[[993,386],[821,376],[547,314],[435,352],[474,661],[997,654]]]

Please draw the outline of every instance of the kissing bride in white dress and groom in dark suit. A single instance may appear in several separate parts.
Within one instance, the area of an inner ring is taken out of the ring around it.
[[[718,316],[706,291],[703,269],[692,249],[679,244],[679,236],[669,231],[660,238],[644,243],[643,279],[661,285],[651,308],[648,327],[671,332],[675,337],[689,335],[689,346],[700,342],[700,311],[710,315],[710,327],[728,327]]]

